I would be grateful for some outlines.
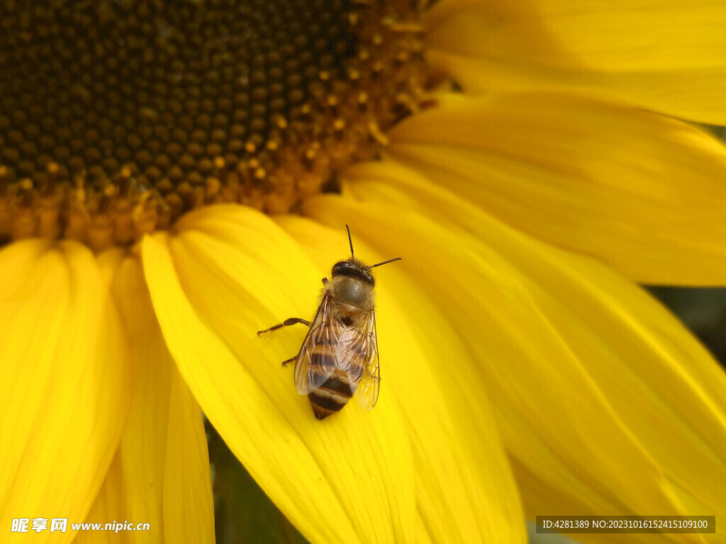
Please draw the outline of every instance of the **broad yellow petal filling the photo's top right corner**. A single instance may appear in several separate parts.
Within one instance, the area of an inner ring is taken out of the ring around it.
[[[724,125],[724,28],[706,0],[448,0],[427,58],[473,94],[575,91]]]

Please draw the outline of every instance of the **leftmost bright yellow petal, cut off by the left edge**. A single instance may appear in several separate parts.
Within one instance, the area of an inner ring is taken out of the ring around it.
[[[67,532],[36,536],[68,542],[121,437],[126,338],[96,260],[80,244],[10,244],[0,252],[0,285],[1,524],[67,518]]]

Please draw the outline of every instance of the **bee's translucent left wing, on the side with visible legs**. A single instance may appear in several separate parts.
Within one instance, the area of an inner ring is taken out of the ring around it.
[[[301,395],[316,390],[330,378],[337,360],[335,345],[338,343],[337,329],[331,319],[330,294],[320,302],[307,336],[295,358],[295,387]]]

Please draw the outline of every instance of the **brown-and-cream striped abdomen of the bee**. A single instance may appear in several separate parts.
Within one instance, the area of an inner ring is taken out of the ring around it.
[[[330,347],[334,349],[330,350]],[[340,350],[340,345],[336,350],[335,346],[322,344],[314,347],[310,357],[311,369],[314,368],[315,371],[327,374],[330,372],[330,367],[333,367],[333,374],[330,374],[317,389],[308,393],[315,417],[324,419],[331,413],[340,411],[340,408],[351,400],[358,387],[365,360],[354,350],[351,353],[348,350]]]

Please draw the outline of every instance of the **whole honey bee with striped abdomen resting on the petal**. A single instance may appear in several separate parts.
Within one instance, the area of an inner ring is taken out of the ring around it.
[[[351,229],[348,225],[346,229],[351,256],[333,265],[330,279],[322,279],[320,304],[312,323],[290,318],[257,332],[259,336],[296,323],[309,326],[298,355],[283,361],[282,366],[295,361],[295,387],[301,395],[308,395],[317,419],[340,411],[351,397],[356,397],[364,411],[375,406],[380,364],[371,270],[401,260],[363,263],[354,257]]]

